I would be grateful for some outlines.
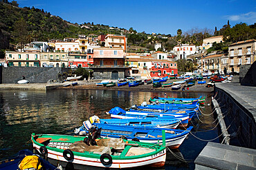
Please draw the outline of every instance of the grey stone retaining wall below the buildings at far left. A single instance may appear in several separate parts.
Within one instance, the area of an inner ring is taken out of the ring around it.
[[[17,83],[23,76],[30,83],[47,83],[56,80],[61,72],[68,72],[68,68],[61,67],[2,67],[2,83]]]

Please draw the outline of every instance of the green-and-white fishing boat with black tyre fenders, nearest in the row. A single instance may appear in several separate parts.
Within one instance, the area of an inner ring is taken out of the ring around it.
[[[190,129],[183,131],[183,134],[177,134],[176,136],[180,137],[179,142],[174,141],[175,144],[180,145],[189,131]],[[74,169],[84,169],[84,165],[121,169],[141,166],[163,167],[165,164],[165,131],[162,135],[163,146],[149,142],[123,140],[119,137],[118,139],[97,138],[99,133],[100,131],[90,131],[88,138],[32,134],[31,140],[33,148],[41,155],[56,160],[60,164],[72,162]],[[105,136],[104,134],[106,132],[102,130],[100,136]],[[94,145],[87,145],[90,143]]]

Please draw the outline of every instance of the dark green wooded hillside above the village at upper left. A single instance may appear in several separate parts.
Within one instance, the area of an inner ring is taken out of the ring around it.
[[[25,22],[21,22],[25,21]],[[121,29],[109,29],[108,25],[93,25],[85,23],[88,28],[81,28],[80,24],[68,23],[61,17],[53,16],[37,8],[19,8],[11,3],[0,1],[0,29],[10,43],[20,43],[17,37],[17,27],[21,26],[26,34],[26,41],[48,41],[49,39],[64,39],[77,37],[78,34],[120,34]],[[124,30],[124,29],[123,29]],[[25,42],[24,42],[25,43]]]

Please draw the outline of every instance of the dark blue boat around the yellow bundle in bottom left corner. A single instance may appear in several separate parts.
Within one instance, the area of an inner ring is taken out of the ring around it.
[[[9,158],[7,160],[1,160],[0,161],[0,169],[1,170],[17,170],[18,164],[23,160],[26,156],[33,156],[34,153],[28,149],[24,149],[19,151],[17,153],[17,156]],[[45,170],[57,170],[57,167],[53,166],[53,164],[50,164],[47,160],[44,160],[42,158],[39,158],[41,164],[44,166]],[[60,170],[60,169],[59,169]]]

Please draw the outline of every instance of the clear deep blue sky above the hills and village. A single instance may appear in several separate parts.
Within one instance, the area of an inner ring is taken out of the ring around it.
[[[11,1],[11,0],[9,0]],[[16,0],[19,7],[44,9],[71,23],[104,24],[158,34],[221,29],[230,21],[256,22],[256,0]]]

